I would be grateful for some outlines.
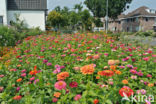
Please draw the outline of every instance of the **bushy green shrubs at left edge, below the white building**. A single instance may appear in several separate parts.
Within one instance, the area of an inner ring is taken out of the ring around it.
[[[39,28],[17,31],[15,28],[0,26],[0,46],[15,46],[27,36],[40,35],[43,32]]]

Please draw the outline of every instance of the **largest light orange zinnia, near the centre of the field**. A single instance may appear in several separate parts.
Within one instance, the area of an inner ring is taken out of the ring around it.
[[[94,69],[94,65],[90,64],[90,65],[85,65],[81,67],[80,70],[82,74],[86,75],[86,74],[93,74],[95,69]]]

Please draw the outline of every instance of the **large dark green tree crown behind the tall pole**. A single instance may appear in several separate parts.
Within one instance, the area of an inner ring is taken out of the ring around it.
[[[86,6],[93,13],[95,17],[105,17],[107,0],[85,0]],[[117,18],[122,12],[129,8],[132,0],[109,0],[108,16],[110,18]]]

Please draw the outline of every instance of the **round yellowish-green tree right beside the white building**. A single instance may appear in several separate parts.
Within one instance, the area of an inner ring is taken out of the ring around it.
[[[63,17],[59,12],[53,10],[48,14],[47,21],[51,26],[59,27],[63,21]]]

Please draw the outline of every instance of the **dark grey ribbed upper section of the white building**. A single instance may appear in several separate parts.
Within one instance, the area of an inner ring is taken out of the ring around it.
[[[7,0],[8,10],[47,10],[47,0]]]

